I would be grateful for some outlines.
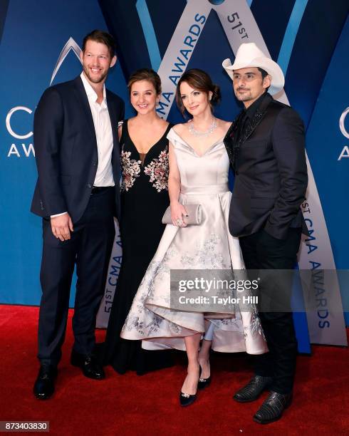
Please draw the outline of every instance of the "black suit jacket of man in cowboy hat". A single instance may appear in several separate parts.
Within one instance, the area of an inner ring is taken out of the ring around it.
[[[300,205],[308,175],[304,126],[288,105],[267,94],[244,133],[233,141],[239,115],[224,144],[235,172],[229,230],[236,237],[263,228],[285,239],[289,227],[308,234]]]

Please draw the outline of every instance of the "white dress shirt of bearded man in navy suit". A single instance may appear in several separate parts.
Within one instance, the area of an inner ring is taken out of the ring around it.
[[[98,167],[93,186],[114,186],[115,183],[112,167],[113,131],[110,123],[107,99],[105,97],[105,85],[103,85],[103,101],[99,104],[97,103],[98,95],[95,93],[95,90],[92,88],[90,83],[88,83],[85,74],[81,73],[80,78],[83,81],[83,87],[85,88],[88,97],[93,125],[95,127],[95,137],[97,140]],[[62,212],[61,214],[51,215],[51,218],[66,213],[67,212]]]

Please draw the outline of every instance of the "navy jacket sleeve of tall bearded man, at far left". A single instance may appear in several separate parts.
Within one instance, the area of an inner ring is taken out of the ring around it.
[[[60,147],[63,135],[63,105],[54,88],[42,95],[34,114],[34,147],[38,188],[48,215],[68,210],[60,180]]]

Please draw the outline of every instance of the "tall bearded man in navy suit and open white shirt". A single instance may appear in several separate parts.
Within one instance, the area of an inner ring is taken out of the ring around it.
[[[118,121],[123,120],[124,103],[105,89],[116,62],[113,37],[89,33],[80,58],[81,75],[46,89],[34,117],[38,181],[31,212],[43,218],[43,254],[41,367],[33,393],[40,399],[54,392],[75,264],[71,363],[86,377],[105,376],[93,356],[95,317],[115,237],[113,217],[120,215]]]

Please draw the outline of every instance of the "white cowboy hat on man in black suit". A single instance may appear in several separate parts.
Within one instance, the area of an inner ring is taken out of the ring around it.
[[[271,58],[267,58],[255,43],[242,43],[236,52],[236,57],[233,65],[230,59],[225,59],[222,62],[226,73],[233,79],[234,70],[240,68],[257,67],[263,68],[271,76],[271,86],[269,93],[272,95],[278,93],[285,84],[285,78],[281,68]]]

